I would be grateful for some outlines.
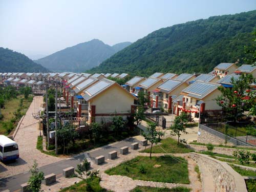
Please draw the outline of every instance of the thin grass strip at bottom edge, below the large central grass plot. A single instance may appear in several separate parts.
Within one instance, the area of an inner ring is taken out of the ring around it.
[[[174,188],[160,188],[160,187],[146,187],[146,186],[137,186],[130,192],[189,192],[190,189],[186,187],[174,187]]]

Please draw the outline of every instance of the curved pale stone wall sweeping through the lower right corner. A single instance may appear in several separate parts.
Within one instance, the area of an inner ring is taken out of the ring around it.
[[[211,175],[216,192],[247,191],[243,177],[235,172],[226,162],[196,153],[191,153],[190,157],[199,165],[200,172],[202,173],[203,191],[207,188],[204,174]],[[206,167],[209,172],[205,173],[202,167]]]

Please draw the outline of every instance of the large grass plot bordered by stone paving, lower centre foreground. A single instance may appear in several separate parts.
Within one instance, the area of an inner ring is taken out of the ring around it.
[[[154,167],[154,165],[161,165]],[[109,175],[122,175],[132,179],[165,183],[189,184],[187,161],[181,157],[138,156],[105,171]]]

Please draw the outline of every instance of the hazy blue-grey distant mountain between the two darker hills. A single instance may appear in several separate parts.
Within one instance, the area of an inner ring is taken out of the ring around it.
[[[52,71],[82,72],[98,66],[103,60],[130,44],[124,42],[111,47],[101,40],[93,39],[37,59],[35,62]]]

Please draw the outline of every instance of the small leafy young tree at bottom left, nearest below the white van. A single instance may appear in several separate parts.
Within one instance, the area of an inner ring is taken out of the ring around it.
[[[39,172],[39,169],[37,168],[38,164],[36,160],[34,160],[34,164],[32,168],[30,169],[31,176],[29,178],[28,184],[29,189],[33,192],[39,192],[41,190],[41,183],[42,180],[44,180],[44,173]]]

